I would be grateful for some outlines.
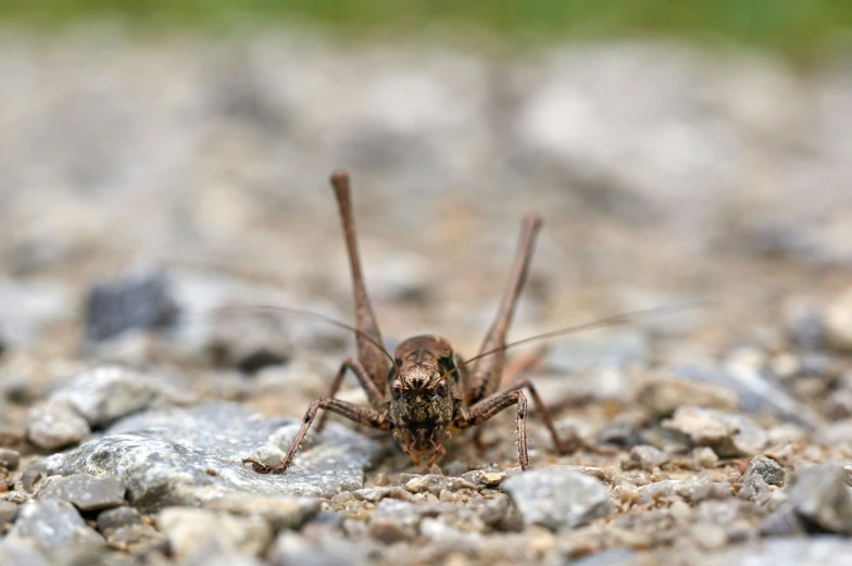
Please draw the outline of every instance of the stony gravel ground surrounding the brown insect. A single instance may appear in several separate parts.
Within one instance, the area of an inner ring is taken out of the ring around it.
[[[845,564],[848,65],[429,46],[0,37],[0,563]],[[508,411],[431,469],[333,418],[254,474],[353,352],[250,307],[352,319],[337,166],[388,345],[474,355],[526,210],[512,338],[705,302],[549,342],[578,448],[534,412],[531,471]]]

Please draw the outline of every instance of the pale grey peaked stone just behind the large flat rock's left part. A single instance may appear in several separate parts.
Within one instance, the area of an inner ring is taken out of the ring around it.
[[[66,403],[90,426],[99,428],[155,403],[185,403],[190,399],[163,379],[104,365],[77,375],[51,393],[50,401]]]

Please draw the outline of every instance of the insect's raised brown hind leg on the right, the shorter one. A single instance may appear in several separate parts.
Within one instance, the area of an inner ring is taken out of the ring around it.
[[[483,342],[483,348],[479,350],[480,354],[502,348],[505,344],[509,325],[512,322],[515,305],[526,281],[529,260],[532,256],[532,249],[539,228],[541,228],[541,217],[537,214],[524,216],[521,240],[515,253],[515,261],[512,264],[512,271],[509,275],[509,282],[500,301],[497,318],[491,324],[491,328],[489,328],[488,335]],[[505,354],[500,351],[487,355],[474,364],[467,390],[467,402],[469,404],[476,403],[497,391],[504,360]]]

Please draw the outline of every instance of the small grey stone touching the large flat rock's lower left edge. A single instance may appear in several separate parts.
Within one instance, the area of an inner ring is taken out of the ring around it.
[[[73,503],[80,511],[98,511],[124,505],[126,481],[120,476],[73,474],[47,478],[36,499],[58,499]]]

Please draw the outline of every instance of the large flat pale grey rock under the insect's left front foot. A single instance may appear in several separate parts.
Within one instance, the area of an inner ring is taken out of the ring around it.
[[[51,475],[118,475],[133,505],[156,510],[246,493],[328,498],[362,488],[364,468],[384,451],[378,442],[329,423],[321,435],[309,433],[286,474],[255,474],[240,465],[248,456],[283,457],[298,426],[231,403],[153,411],[126,417],[104,437],[49,456],[42,465]]]

